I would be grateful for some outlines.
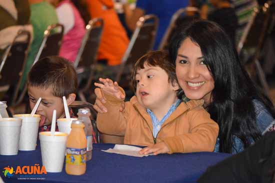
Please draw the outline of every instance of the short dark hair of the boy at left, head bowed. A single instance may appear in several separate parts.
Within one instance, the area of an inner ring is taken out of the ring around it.
[[[30,69],[27,85],[52,89],[57,97],[75,93],[77,88],[76,72],[72,64],[59,56],[47,56],[39,59]]]

